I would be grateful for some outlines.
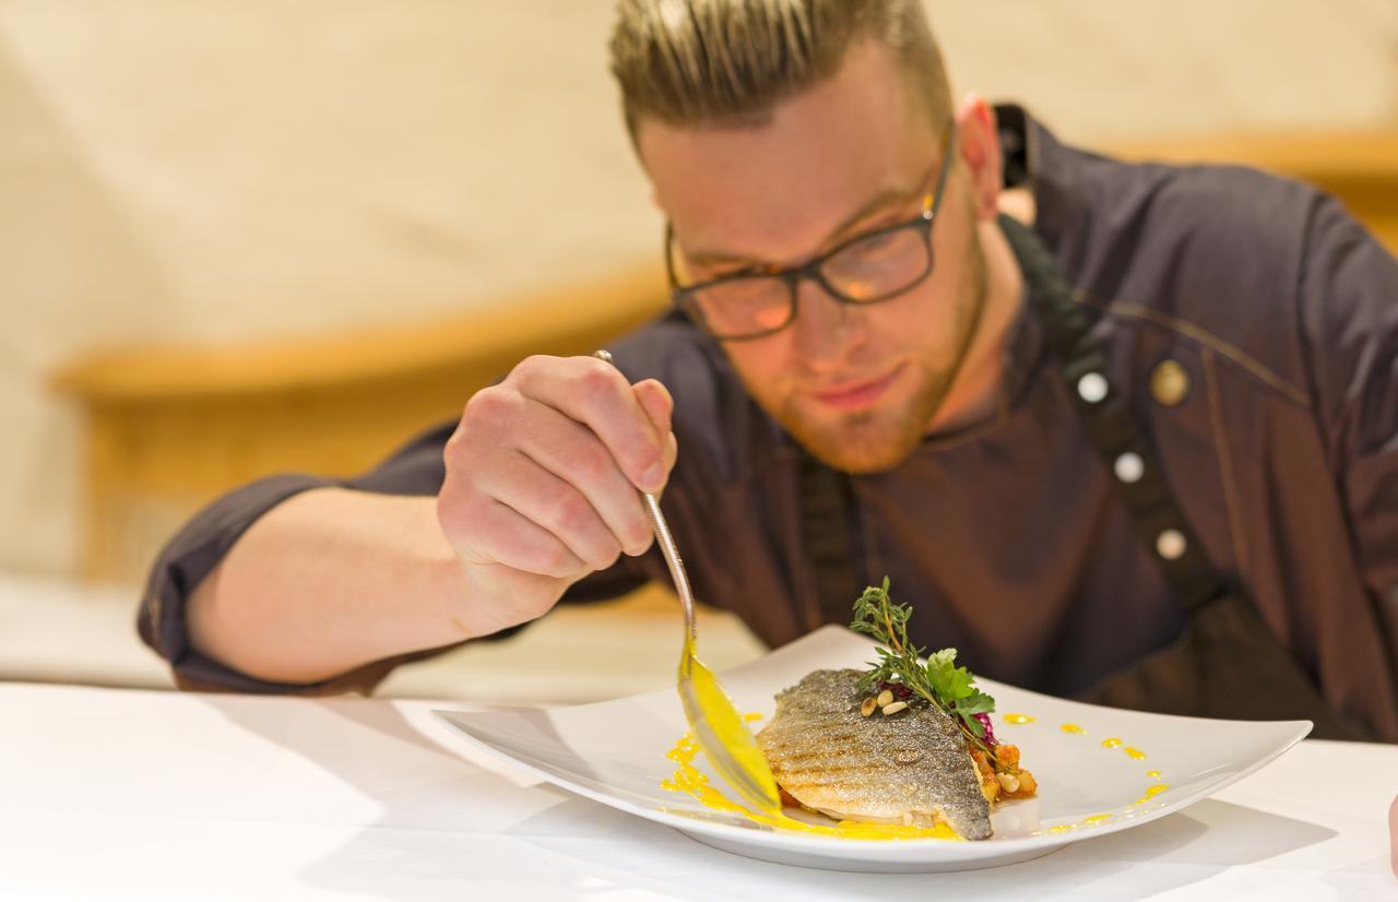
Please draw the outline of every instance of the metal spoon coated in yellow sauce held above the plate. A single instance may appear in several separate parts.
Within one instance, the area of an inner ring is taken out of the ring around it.
[[[597,351],[597,359],[611,362],[611,354]],[[640,492],[656,533],[656,543],[670,566],[670,579],[685,611],[685,643],[679,654],[679,701],[689,720],[689,731],[699,743],[705,757],[719,776],[724,779],[748,804],[766,814],[780,814],[781,800],[777,796],[777,782],[772,776],[768,759],[758,748],[758,741],[748,730],[747,722],[733,706],[728,694],[723,691],[719,677],[695,656],[698,629],[695,628],[695,600],[685,576],[685,564],[679,550],[670,536],[670,526],[660,512],[660,503],[650,492]]]

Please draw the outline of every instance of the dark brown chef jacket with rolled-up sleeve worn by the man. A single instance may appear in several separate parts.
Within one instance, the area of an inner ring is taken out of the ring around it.
[[[1109,376],[1208,558],[1334,709],[1398,741],[1398,263],[1335,200],[1295,182],[1121,164],[1033,120],[1007,143],[1026,148],[1035,231],[1089,306]],[[696,593],[770,645],[818,625],[791,439],[675,315],[611,350],[630,379],[657,378],[675,397],[681,453],[664,509]],[[990,422],[851,480],[856,568],[867,583],[888,575],[916,607],[918,645],[956,646],[980,674],[1071,695],[1167,645],[1184,614],[1026,312],[1004,376]],[[141,636],[182,685],[252,692],[368,689],[432,653],[312,687],[270,684],[190,649],[183,606],[238,536],[295,492],[435,494],[452,428],[356,480],[280,475],[217,501],[157,562]],[[647,579],[667,579],[654,550],[566,600]]]

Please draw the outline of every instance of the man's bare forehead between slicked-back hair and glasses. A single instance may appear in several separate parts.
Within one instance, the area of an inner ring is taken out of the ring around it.
[[[686,250],[797,260],[871,199],[918,190],[938,150],[921,110],[891,55],[865,43],[768,123],[646,122],[637,144]]]

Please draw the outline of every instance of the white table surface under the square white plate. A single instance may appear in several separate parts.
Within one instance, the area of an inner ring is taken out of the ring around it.
[[[535,785],[432,708],[463,706],[0,684],[0,899],[1398,899],[1398,747],[1306,741],[1023,864],[847,874]]]

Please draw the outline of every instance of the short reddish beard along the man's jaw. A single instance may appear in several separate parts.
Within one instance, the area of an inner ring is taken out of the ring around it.
[[[846,473],[878,473],[902,463],[921,443],[928,424],[941,410],[960,373],[986,309],[988,277],[977,231],[972,229],[963,271],[966,280],[952,298],[949,340],[941,348],[924,348],[911,361],[914,387],[905,401],[875,404],[868,410],[829,417],[809,417],[800,393],[765,399],[748,393],[814,457]],[[930,313],[935,316],[934,313]],[[951,352],[948,354],[948,350]]]

